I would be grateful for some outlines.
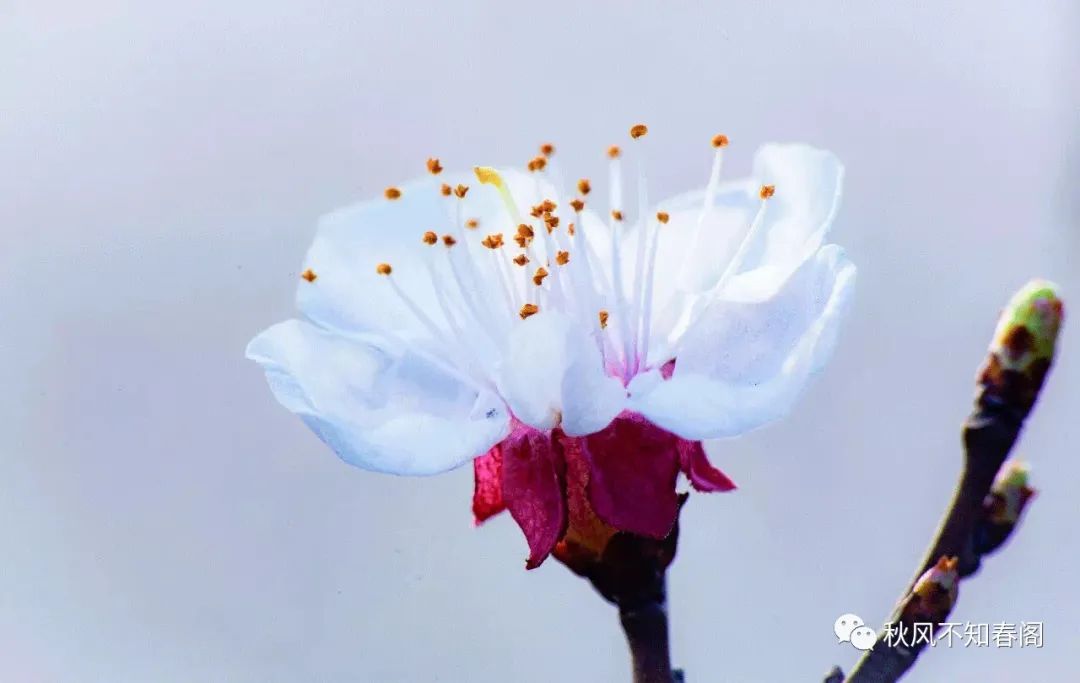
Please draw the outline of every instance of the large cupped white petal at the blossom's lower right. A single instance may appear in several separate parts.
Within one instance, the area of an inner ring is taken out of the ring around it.
[[[782,417],[832,354],[854,281],[843,251],[827,245],[772,299],[716,298],[683,339],[672,378],[643,381],[631,407],[686,439],[731,437]]]

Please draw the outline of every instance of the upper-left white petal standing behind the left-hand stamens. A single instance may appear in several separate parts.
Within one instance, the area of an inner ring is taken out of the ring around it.
[[[536,182],[514,170],[501,172],[511,193],[524,211],[536,190]],[[469,186],[463,200],[443,197],[440,186],[446,183]],[[320,325],[349,333],[386,332],[409,339],[430,340],[433,336],[402,304],[387,278],[376,273],[376,266],[390,264],[394,282],[416,303],[441,330],[447,324],[435,290],[443,284],[447,296],[460,298],[441,243],[429,246],[421,241],[428,230],[438,236],[463,236],[455,250],[465,250],[473,256],[480,282],[465,282],[471,296],[482,297],[490,306],[504,306],[497,276],[486,249],[484,236],[503,232],[507,241],[516,223],[507,212],[498,191],[481,185],[474,175],[427,176],[400,188],[396,200],[374,199],[347,206],[324,216],[315,240],[308,251],[303,267],[316,274],[314,282],[300,282],[297,305],[310,320]],[[460,219],[476,218],[478,227],[462,229]],[[435,250],[435,251],[433,251]],[[432,266],[432,264],[434,264]]]

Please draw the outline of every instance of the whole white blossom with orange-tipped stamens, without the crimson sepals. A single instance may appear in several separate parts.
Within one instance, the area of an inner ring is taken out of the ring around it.
[[[707,187],[650,207],[633,132],[633,201],[618,150],[604,200],[589,183],[568,195],[545,150],[530,173],[444,178],[432,160],[436,173],[325,216],[305,320],[247,356],[345,460],[399,474],[457,467],[518,425],[579,437],[630,411],[696,441],[782,416],[854,284],[825,243],[840,163],[767,145],[750,178],[723,183],[717,136]]]

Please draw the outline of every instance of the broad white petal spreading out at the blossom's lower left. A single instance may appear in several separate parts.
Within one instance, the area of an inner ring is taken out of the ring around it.
[[[345,461],[394,474],[434,474],[509,433],[495,394],[413,354],[387,351],[289,320],[252,339],[278,401]]]

